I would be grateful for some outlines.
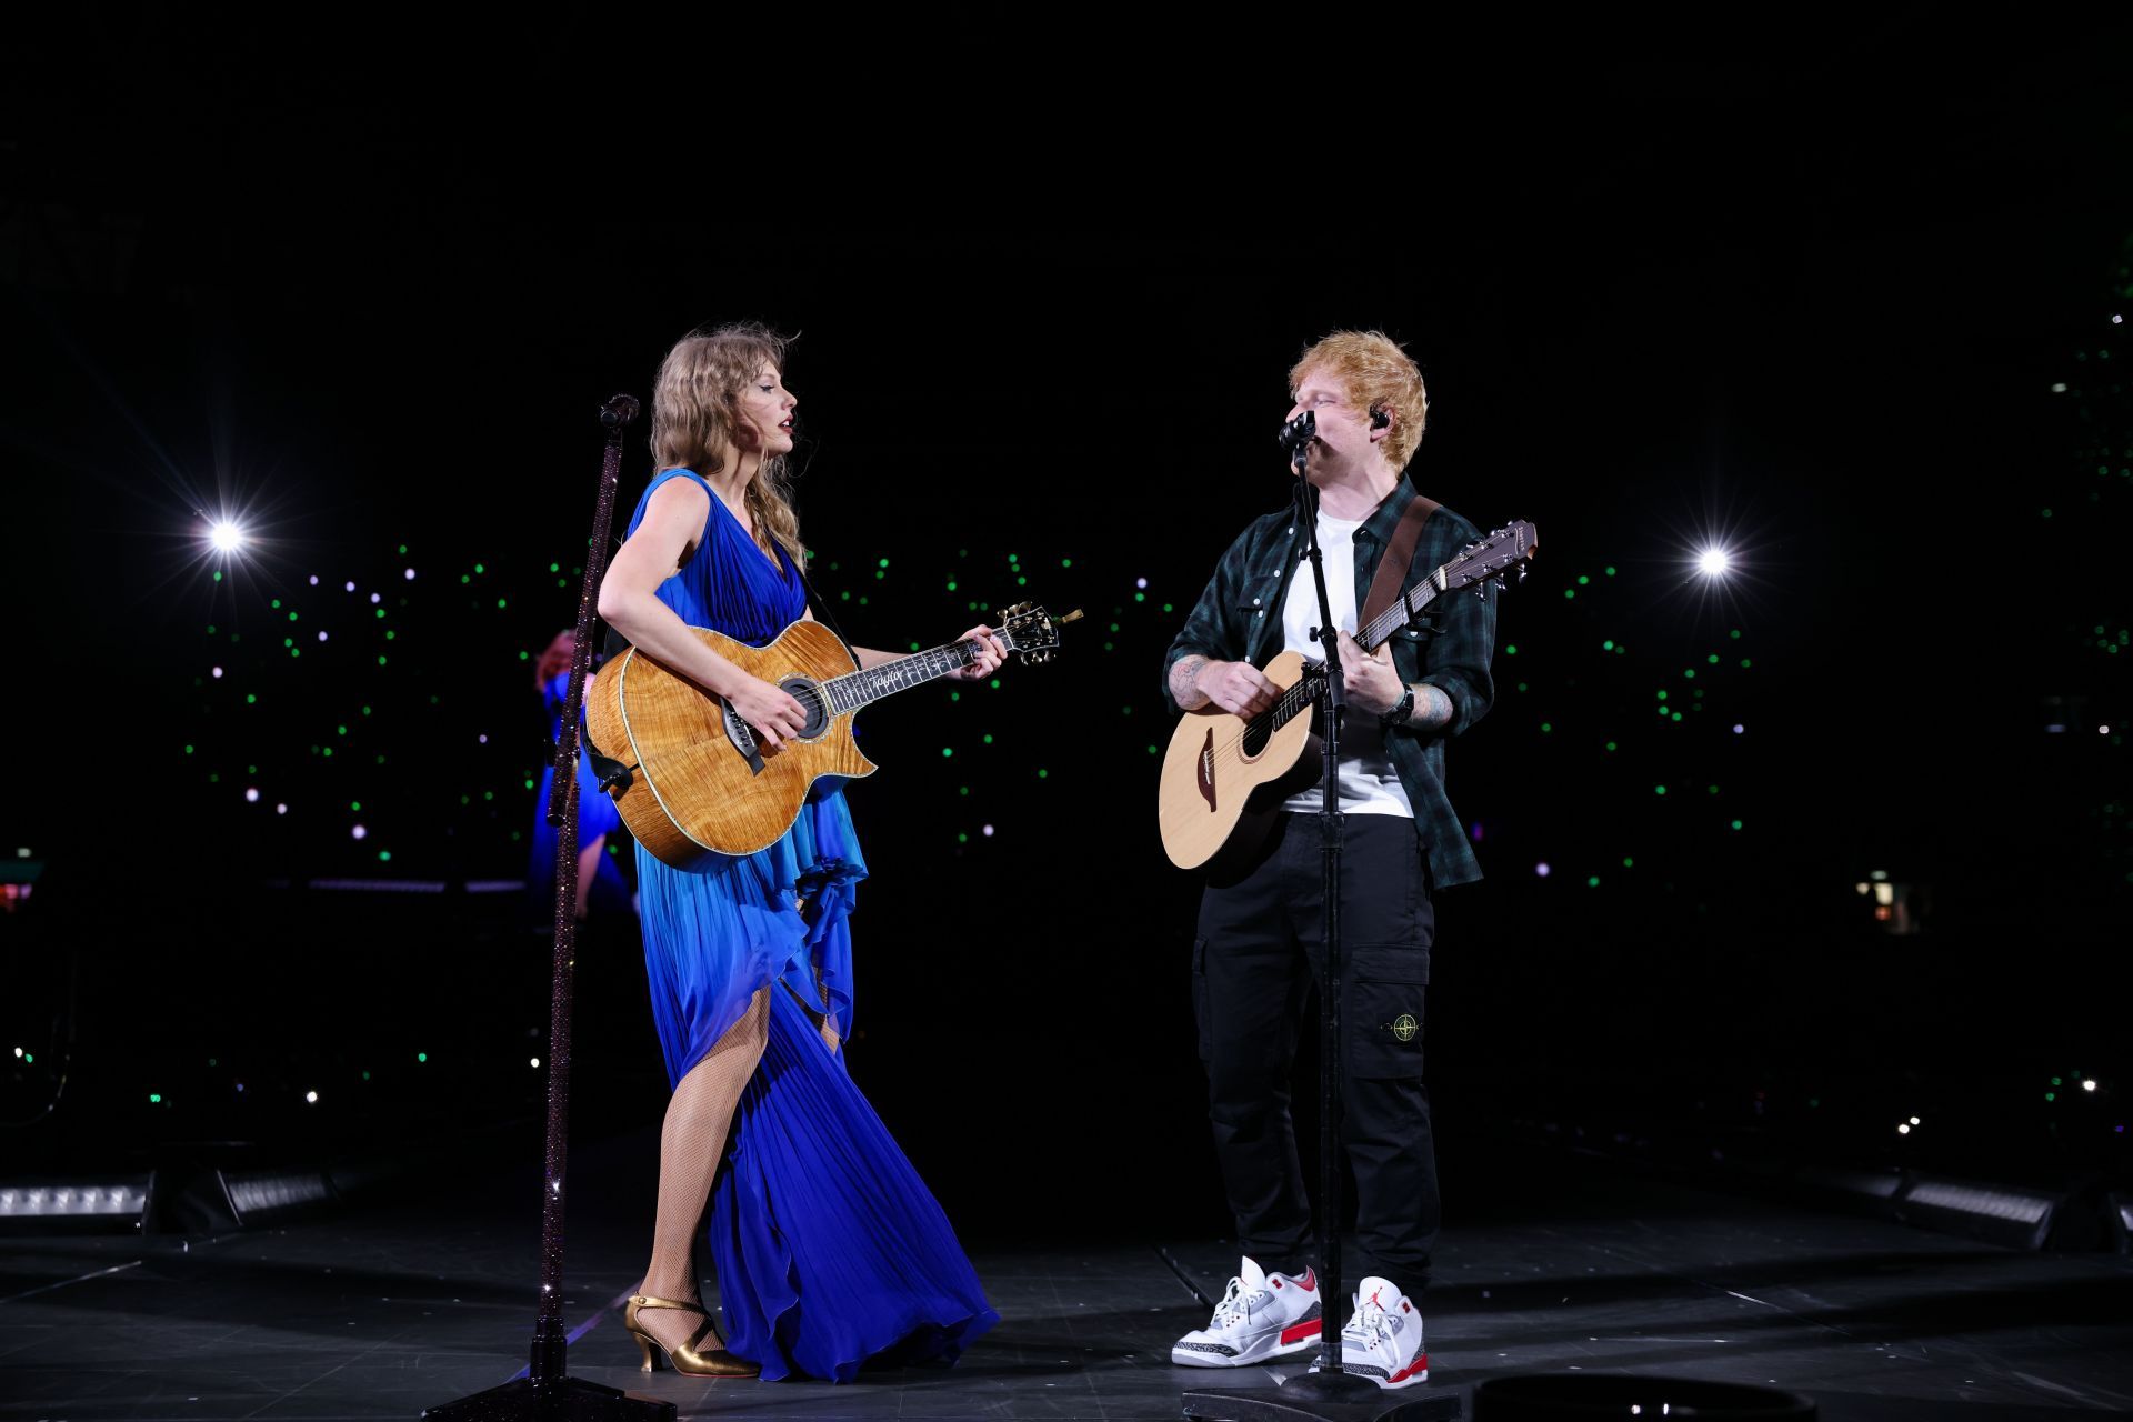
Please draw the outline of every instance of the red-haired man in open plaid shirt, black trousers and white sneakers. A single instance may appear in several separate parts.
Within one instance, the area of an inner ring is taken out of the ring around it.
[[[1423,989],[1436,938],[1433,887],[1480,878],[1444,793],[1444,742],[1489,710],[1495,593],[1438,599],[1376,655],[1354,642],[1357,608],[1414,499],[1408,460],[1429,399],[1414,360],[1382,333],[1340,330],[1288,373],[1290,418],[1312,411],[1305,473],[1318,490],[1327,595],[1348,680],[1342,723],[1342,1004],[1348,1162],[1357,1181],[1363,1281],[1342,1332],[1346,1371],[1401,1388],[1429,1377],[1421,1294],[1438,1234],[1438,1173],[1423,1085]],[[1280,686],[1258,667],[1282,650],[1320,657],[1318,595],[1293,512],[1254,520],[1222,554],[1165,663],[1184,712],[1256,716]],[[1399,582],[1406,591],[1480,533],[1438,507]],[[1192,1004],[1209,1119],[1244,1266],[1207,1328],[1173,1362],[1239,1367],[1316,1350],[1303,1192],[1288,1074],[1310,979],[1322,968],[1320,789],[1295,795],[1241,876],[1209,883],[1192,944]],[[1395,1283],[1397,1279],[1397,1283]]]

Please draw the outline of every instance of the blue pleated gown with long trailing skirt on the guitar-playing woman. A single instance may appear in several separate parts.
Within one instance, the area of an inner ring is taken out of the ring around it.
[[[644,522],[653,480],[629,518]],[[702,480],[697,480],[702,484]],[[710,486],[710,516],[659,601],[691,627],[764,646],[806,612]],[[680,1079],[768,983],[770,1045],[740,1096],[710,1198],[727,1347],[766,1379],[849,1381],[870,1358],[953,1360],[998,1322],[947,1215],[830,1053],[800,1002],[851,1036],[851,908],[866,859],[843,789],[819,780],[770,849],[676,870],[638,846],[644,968],[668,1081]],[[806,900],[802,915],[796,900]],[[798,993],[798,1000],[793,998]]]

